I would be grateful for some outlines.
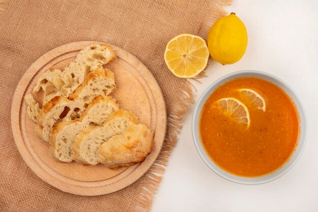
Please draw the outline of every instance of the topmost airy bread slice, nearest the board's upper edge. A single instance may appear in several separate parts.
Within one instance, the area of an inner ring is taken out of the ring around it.
[[[38,93],[43,89],[43,105],[55,96],[68,97],[83,82],[90,71],[96,70],[115,58],[116,54],[109,45],[87,46],[63,71],[48,69],[40,74],[33,92]]]

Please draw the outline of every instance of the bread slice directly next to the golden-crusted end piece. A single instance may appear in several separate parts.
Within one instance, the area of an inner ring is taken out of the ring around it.
[[[120,134],[129,126],[137,123],[137,117],[131,112],[118,110],[112,113],[102,127],[88,128],[75,136],[73,160],[90,165],[98,164],[99,146],[112,136]]]

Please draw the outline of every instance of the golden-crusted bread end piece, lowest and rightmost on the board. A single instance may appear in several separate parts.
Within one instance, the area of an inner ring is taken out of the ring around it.
[[[145,125],[131,125],[98,149],[98,160],[109,168],[143,162],[152,151],[153,134]]]

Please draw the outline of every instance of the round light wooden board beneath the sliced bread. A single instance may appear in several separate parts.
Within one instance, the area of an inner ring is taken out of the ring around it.
[[[12,102],[11,125],[15,143],[25,163],[55,188],[78,195],[108,194],[131,185],[154,163],[164,143],[166,107],[161,89],[150,71],[135,56],[112,46],[118,58],[105,67],[115,73],[117,89],[110,96],[120,107],[134,112],[154,132],[154,146],[143,163],[111,170],[102,164],[84,166],[59,163],[48,155],[49,144],[34,133],[36,126],[26,114],[24,96],[31,93],[38,75],[49,68],[65,68],[85,46],[100,42],[82,41],[57,47],[41,56],[21,78]]]

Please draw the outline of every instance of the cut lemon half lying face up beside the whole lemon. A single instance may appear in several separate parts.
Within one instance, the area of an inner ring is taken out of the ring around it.
[[[164,57],[168,69],[175,76],[190,78],[205,69],[209,49],[201,37],[181,34],[168,42]]]

